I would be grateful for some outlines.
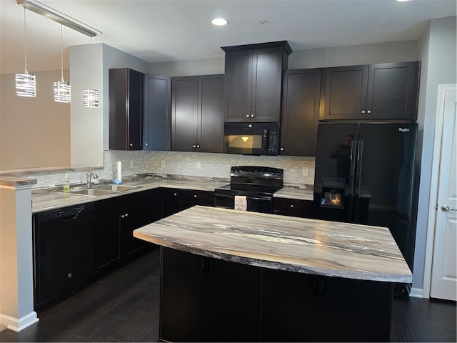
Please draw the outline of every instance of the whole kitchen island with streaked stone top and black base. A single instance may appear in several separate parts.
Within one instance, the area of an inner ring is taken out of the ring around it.
[[[382,227],[196,206],[134,237],[161,245],[166,341],[388,341],[412,281]]]

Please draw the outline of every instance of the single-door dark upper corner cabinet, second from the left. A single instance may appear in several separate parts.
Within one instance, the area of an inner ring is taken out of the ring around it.
[[[171,77],[144,76],[144,150],[171,149]]]

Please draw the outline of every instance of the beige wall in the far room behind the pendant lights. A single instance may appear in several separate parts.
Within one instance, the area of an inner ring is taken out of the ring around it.
[[[70,166],[70,104],[53,98],[61,72],[34,74],[35,98],[16,96],[14,74],[0,75],[0,169]]]

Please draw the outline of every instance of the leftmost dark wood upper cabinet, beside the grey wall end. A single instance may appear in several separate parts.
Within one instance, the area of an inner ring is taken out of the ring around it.
[[[144,74],[109,69],[109,149],[143,148]]]

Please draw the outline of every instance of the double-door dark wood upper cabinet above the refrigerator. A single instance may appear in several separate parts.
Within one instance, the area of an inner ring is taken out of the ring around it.
[[[416,120],[420,62],[326,69],[321,119]]]

